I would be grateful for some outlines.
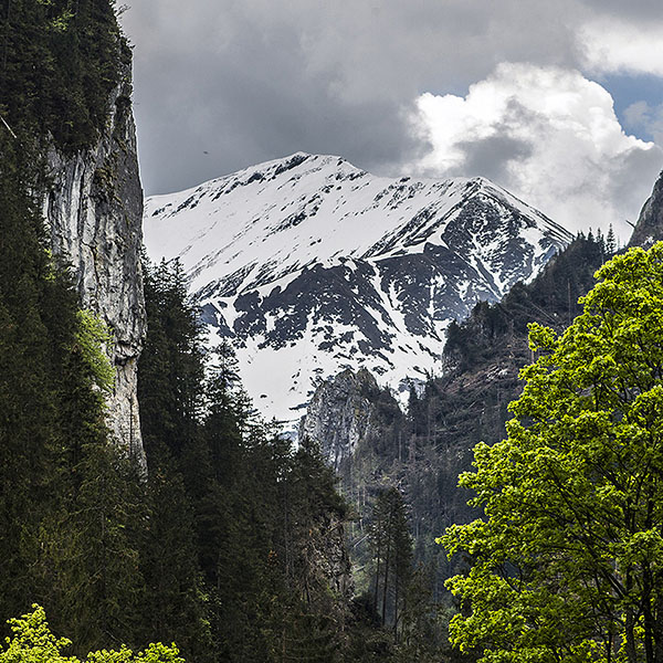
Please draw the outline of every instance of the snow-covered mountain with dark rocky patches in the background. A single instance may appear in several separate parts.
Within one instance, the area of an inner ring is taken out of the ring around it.
[[[210,343],[233,338],[245,388],[281,420],[344,368],[394,387],[439,372],[449,323],[570,240],[486,179],[389,179],[303,152],[145,209],[150,257],[180,257]]]

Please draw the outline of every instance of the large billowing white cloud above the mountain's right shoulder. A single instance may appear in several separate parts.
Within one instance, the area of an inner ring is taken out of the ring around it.
[[[488,177],[571,231],[623,240],[663,150],[627,136],[612,97],[577,71],[503,63],[465,97],[423,94],[412,118],[430,150],[411,170]]]

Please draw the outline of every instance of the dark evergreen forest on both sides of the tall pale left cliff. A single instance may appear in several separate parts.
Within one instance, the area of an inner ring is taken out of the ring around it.
[[[345,506],[315,450],[293,454],[257,421],[230,354],[204,375],[177,270],[148,271],[147,476],[106,427],[115,338],[80,308],[42,210],[49,150],[90,149],[122,103],[108,99],[130,52],[112,3],[6,9],[0,622],[38,602],[80,654],[161,639],[196,661],[332,660],[349,648]],[[104,173],[116,196],[123,173]]]

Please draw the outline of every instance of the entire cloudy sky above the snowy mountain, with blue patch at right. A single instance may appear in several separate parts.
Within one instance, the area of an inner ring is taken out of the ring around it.
[[[663,168],[660,0],[131,0],[147,194],[297,150],[488,177],[627,239]]]

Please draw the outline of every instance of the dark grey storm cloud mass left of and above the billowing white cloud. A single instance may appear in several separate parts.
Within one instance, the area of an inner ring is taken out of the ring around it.
[[[640,17],[649,3],[629,7]],[[408,124],[419,94],[462,96],[504,61],[576,66],[575,28],[598,9],[598,0],[134,0],[123,22],[135,44],[146,191],[296,150],[396,175],[427,148]],[[512,148],[475,146],[473,162],[496,171]]]

